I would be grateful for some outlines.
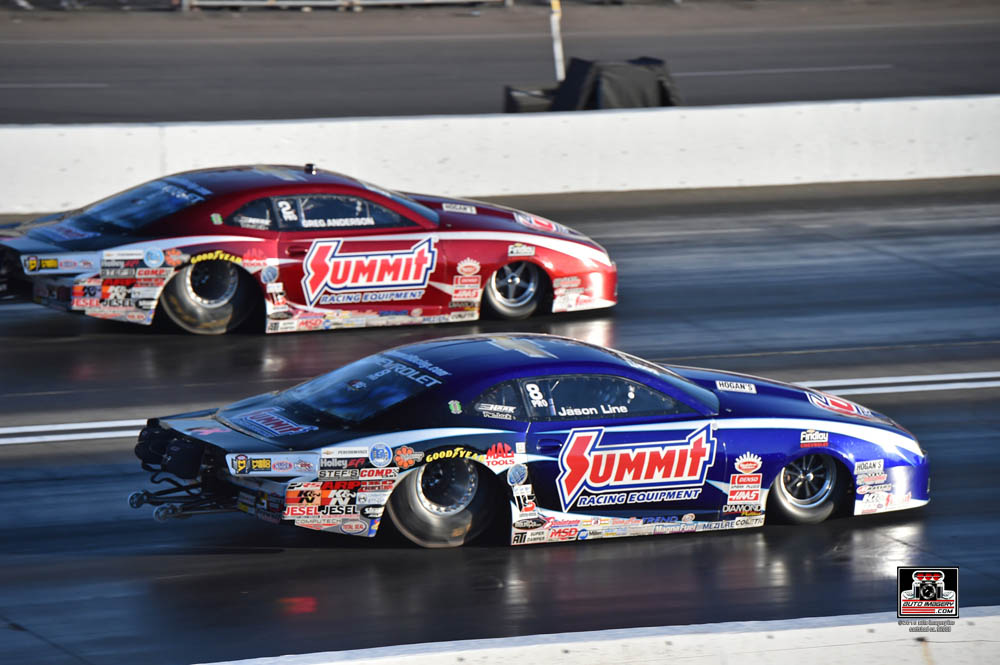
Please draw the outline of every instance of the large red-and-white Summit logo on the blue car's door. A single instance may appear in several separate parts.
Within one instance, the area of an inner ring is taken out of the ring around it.
[[[603,427],[570,432],[559,453],[556,481],[563,510],[569,510],[583,490],[601,493],[701,487],[708,468],[715,463],[717,446],[710,425],[679,441],[602,445],[603,437]]]

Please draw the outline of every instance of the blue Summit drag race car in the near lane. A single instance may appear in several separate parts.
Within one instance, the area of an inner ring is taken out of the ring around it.
[[[548,335],[401,346],[278,393],[149,420],[154,517],[239,510],[425,547],[811,524],[929,500],[927,456],[853,402]],[[383,514],[383,511],[384,514]]]

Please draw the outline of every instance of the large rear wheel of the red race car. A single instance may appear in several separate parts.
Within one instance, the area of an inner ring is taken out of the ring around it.
[[[160,306],[170,320],[196,335],[235,330],[253,311],[250,276],[229,261],[184,266],[167,283]]]

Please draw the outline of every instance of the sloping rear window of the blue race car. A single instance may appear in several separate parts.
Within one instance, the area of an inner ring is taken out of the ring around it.
[[[447,372],[440,368],[389,354],[397,355],[389,351],[362,358],[299,384],[282,393],[282,401],[293,408],[304,406],[339,420],[360,423],[444,382],[442,373]]]

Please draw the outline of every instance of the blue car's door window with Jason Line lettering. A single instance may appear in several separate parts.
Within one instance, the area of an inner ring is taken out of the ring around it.
[[[525,379],[532,420],[633,418],[694,413],[687,405],[627,379],[558,376]]]

